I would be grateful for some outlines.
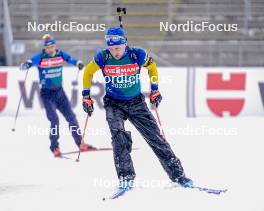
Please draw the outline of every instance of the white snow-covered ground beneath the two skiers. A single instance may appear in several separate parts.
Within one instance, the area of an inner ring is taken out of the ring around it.
[[[84,117],[78,116],[83,125]],[[93,117],[89,122],[96,122]],[[61,119],[64,127],[67,127]],[[139,183],[133,191],[117,200],[102,201],[115,190],[112,152],[83,153],[80,162],[73,158],[57,159],[49,151],[46,135],[28,134],[28,126],[49,127],[41,116],[22,116],[17,130],[11,132],[13,117],[0,117],[0,210],[210,210],[264,211],[264,118],[195,118],[168,119],[163,122],[175,128],[225,128],[235,134],[167,134],[187,176],[196,184],[211,188],[228,188],[220,196],[196,190],[167,188],[167,175],[143,138],[132,129],[132,152],[138,181],[163,181],[163,186]],[[104,125],[105,127],[105,125]],[[233,128],[233,129],[232,129]],[[234,129],[235,128],[235,129]],[[110,147],[108,129],[89,134],[86,142]],[[70,136],[61,135],[62,151],[75,150]],[[103,181],[100,186],[96,181]]]

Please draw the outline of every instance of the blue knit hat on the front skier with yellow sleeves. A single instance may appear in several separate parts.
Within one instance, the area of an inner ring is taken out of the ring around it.
[[[127,42],[125,30],[119,26],[108,28],[105,35],[105,41],[108,46],[125,44]]]

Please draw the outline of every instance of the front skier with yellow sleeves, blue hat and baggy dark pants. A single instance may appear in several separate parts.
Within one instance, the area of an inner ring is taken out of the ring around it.
[[[91,81],[93,74],[101,69],[105,79],[107,78],[105,80],[106,95],[103,101],[106,120],[112,135],[114,163],[120,181],[119,187],[132,188],[136,176],[130,156],[131,133],[124,128],[126,119],[147,141],[170,179],[183,187],[191,187],[192,180],[185,176],[180,160],[160,134],[156,120],[141,94],[140,80],[137,80],[141,67],[145,67],[151,80],[150,102],[158,107],[162,97],[158,89],[156,63],[145,50],[130,48],[127,45],[125,31],[121,27],[109,28],[105,39],[107,48],[97,52],[94,59],[85,67],[82,92],[83,109],[89,116],[92,115],[94,108],[93,100],[90,97]]]

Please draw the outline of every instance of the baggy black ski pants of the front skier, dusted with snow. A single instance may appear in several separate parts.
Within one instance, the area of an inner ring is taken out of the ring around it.
[[[134,179],[136,176],[130,155],[132,151],[131,132],[124,128],[124,121],[127,119],[144,137],[173,182],[185,176],[180,160],[173,153],[169,143],[161,136],[157,122],[142,94],[126,101],[105,96],[104,108],[112,135],[116,172],[120,180]]]

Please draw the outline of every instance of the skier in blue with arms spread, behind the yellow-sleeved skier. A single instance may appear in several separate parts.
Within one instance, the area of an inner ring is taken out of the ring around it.
[[[50,121],[50,150],[55,157],[61,156],[59,148],[59,118],[56,113],[58,109],[69,123],[69,129],[76,145],[81,151],[87,151],[90,145],[82,143],[79,124],[72,111],[70,102],[62,88],[62,69],[64,61],[75,65],[82,70],[82,61],[72,58],[69,54],[56,47],[56,40],[50,34],[42,37],[43,49],[34,55],[30,60],[21,64],[21,70],[27,70],[32,66],[37,66],[39,80],[41,84],[40,97],[46,110],[46,115]]]

